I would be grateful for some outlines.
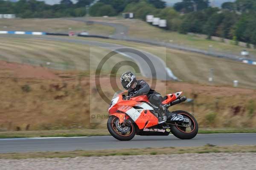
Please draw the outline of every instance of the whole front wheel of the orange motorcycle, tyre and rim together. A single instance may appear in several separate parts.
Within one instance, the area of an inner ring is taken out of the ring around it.
[[[108,118],[107,127],[109,133],[119,141],[129,141],[134,138],[134,135],[136,134],[135,126],[130,118],[125,125],[121,126],[119,124],[119,118],[112,115]]]

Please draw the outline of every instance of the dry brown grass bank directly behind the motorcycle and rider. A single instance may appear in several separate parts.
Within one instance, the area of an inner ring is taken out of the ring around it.
[[[79,72],[48,71],[59,78],[17,78],[12,70],[0,69],[0,129],[105,128],[107,118],[90,123],[90,113],[108,114],[108,104],[98,95],[93,78]],[[110,84],[108,77],[101,81]],[[105,87],[111,98],[111,87]],[[255,90],[157,81],[157,91],[184,91],[188,98],[194,98],[193,114],[200,127],[256,127]],[[170,108],[177,109],[191,112],[192,106],[184,103]]]

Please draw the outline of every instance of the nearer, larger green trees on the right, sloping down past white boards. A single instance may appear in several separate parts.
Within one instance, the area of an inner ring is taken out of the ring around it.
[[[145,20],[154,14],[167,20],[167,28],[182,34],[188,32],[233,39],[256,45],[256,0],[223,3],[221,9],[210,6],[209,0],[183,0],[174,7],[156,8],[146,1],[128,4],[124,12]]]

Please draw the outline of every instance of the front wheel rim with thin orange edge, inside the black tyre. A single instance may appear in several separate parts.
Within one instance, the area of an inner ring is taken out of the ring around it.
[[[115,131],[115,133],[118,135],[121,135],[121,136],[130,136],[134,131],[134,128],[130,121],[128,123],[126,123],[125,125],[121,126],[119,124],[119,119],[116,117],[113,118],[113,120],[111,122],[111,126],[112,126],[113,130]]]

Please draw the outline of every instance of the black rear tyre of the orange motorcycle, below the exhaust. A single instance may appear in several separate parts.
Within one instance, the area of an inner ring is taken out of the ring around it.
[[[183,111],[183,110],[177,110],[174,111],[176,114],[184,115],[187,118],[189,118],[192,121],[193,129],[191,128],[191,132],[184,131],[183,127],[172,125],[170,127],[171,132],[173,135],[175,135],[177,138],[180,139],[192,139],[194,138],[198,133],[198,123],[195,120],[194,116],[191,115],[189,112]],[[186,128],[185,128],[186,129]]]

